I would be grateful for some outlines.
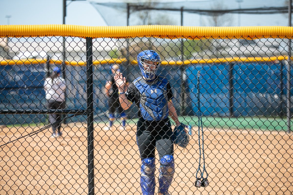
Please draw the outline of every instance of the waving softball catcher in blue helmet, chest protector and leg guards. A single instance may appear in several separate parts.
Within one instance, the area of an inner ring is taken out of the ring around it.
[[[178,121],[172,103],[173,93],[168,80],[156,74],[161,63],[160,56],[152,50],[137,55],[142,77],[138,77],[126,88],[126,79],[121,73],[114,76],[118,87],[119,101],[124,110],[132,102],[139,108],[137,122],[137,144],[141,164],[140,184],[143,195],[155,191],[155,148],[159,153],[159,192],[169,195],[168,188],[175,172],[173,143],[186,147],[189,141],[185,125]],[[168,115],[175,121],[174,133]]]

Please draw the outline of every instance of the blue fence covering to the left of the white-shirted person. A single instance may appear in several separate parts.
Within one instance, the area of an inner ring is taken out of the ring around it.
[[[0,109],[42,109],[45,64],[0,65]],[[45,122],[44,115],[0,115],[0,124]]]

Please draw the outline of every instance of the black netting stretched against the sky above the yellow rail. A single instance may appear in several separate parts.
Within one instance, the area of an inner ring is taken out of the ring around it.
[[[91,4],[108,25],[286,26],[289,1],[125,1]],[[182,15],[181,15],[182,12]],[[129,18],[127,19],[127,16]],[[181,24],[181,18],[182,23]],[[257,18],[257,19],[256,19]]]

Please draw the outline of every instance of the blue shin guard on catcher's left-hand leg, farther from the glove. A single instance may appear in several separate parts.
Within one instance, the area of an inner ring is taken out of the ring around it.
[[[153,195],[155,191],[155,158],[145,158],[142,160],[140,186],[143,195]]]

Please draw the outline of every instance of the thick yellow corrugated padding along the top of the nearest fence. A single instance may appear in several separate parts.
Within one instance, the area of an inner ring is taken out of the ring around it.
[[[192,27],[171,25],[141,26],[79,26],[79,25],[0,25],[0,37],[70,36],[92,38],[218,38],[260,39],[293,36],[293,27],[248,26],[248,27]]]

